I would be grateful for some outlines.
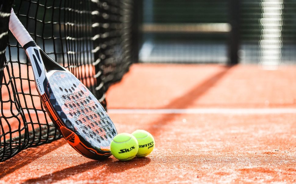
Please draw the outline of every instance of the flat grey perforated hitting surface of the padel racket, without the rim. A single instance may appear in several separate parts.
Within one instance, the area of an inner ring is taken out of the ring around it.
[[[62,80],[59,77],[57,80],[55,76],[61,76],[60,73],[63,73],[65,77]],[[52,83],[54,85],[50,85],[53,86],[51,92],[49,90],[50,95],[53,95],[51,99],[55,97],[55,105],[61,107],[61,112],[65,116],[61,119],[67,119],[70,122],[71,126],[68,128],[94,147],[110,146],[112,138],[117,133],[113,123],[109,123],[109,116],[95,96],[74,75],[66,72],[54,72],[49,78],[49,84]],[[58,86],[57,90],[53,89],[56,86]]]

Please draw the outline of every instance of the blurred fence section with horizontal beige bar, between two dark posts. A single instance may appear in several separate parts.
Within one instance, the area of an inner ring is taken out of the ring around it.
[[[226,63],[228,2],[144,0],[142,62]]]

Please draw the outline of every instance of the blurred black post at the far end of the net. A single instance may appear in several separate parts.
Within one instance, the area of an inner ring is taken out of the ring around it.
[[[142,40],[140,27],[143,17],[143,0],[134,0],[132,9],[132,62],[138,63],[140,42]]]

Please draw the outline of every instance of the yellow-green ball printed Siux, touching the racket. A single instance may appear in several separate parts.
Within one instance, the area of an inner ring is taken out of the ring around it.
[[[132,134],[121,133],[113,138],[110,144],[111,153],[122,161],[132,160],[139,149],[137,139]]]

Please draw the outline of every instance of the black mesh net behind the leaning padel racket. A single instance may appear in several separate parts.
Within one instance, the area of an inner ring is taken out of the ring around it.
[[[0,161],[61,137],[41,105],[31,64],[8,30],[11,7],[38,46],[105,108],[106,90],[131,64],[131,0],[1,1]]]

